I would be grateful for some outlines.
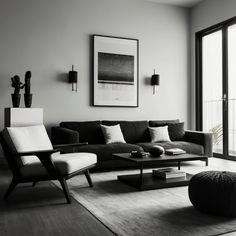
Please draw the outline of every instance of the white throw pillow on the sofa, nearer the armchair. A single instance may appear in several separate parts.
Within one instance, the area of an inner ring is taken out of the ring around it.
[[[101,129],[102,129],[106,144],[126,143],[119,124],[112,125],[112,126],[101,125]]]

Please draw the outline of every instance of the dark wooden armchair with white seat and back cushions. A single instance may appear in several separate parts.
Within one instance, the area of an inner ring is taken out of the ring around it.
[[[53,146],[43,125],[5,128],[0,133],[0,143],[13,174],[5,199],[19,183],[33,182],[34,186],[39,181],[58,180],[70,203],[66,180],[81,172],[93,186],[89,169],[97,163],[96,154],[60,153],[86,143]]]

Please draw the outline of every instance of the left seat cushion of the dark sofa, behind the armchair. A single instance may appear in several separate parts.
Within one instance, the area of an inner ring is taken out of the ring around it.
[[[97,154],[98,161],[107,161],[117,159],[112,154],[138,151],[143,149],[137,145],[129,143],[110,143],[97,145],[78,146],[74,149],[76,152],[91,152]]]

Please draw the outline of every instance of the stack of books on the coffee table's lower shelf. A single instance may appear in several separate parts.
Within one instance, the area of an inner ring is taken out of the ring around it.
[[[186,177],[186,172],[176,170],[171,167],[159,168],[152,171],[153,176],[160,177],[163,179],[181,178]]]

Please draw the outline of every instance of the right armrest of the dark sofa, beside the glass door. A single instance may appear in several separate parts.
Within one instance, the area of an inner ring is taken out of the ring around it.
[[[186,130],[185,135],[184,135],[184,141],[202,145],[204,147],[204,155],[206,155],[208,157],[213,156],[212,133]]]

